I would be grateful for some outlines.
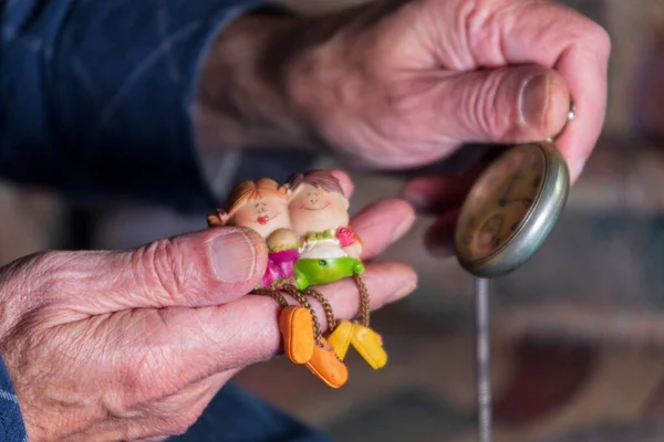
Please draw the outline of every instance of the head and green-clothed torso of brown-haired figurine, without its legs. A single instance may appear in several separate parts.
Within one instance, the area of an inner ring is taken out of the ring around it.
[[[349,225],[349,200],[339,180],[313,170],[288,179],[291,225],[301,238],[295,286],[326,284],[364,273],[362,241]]]

